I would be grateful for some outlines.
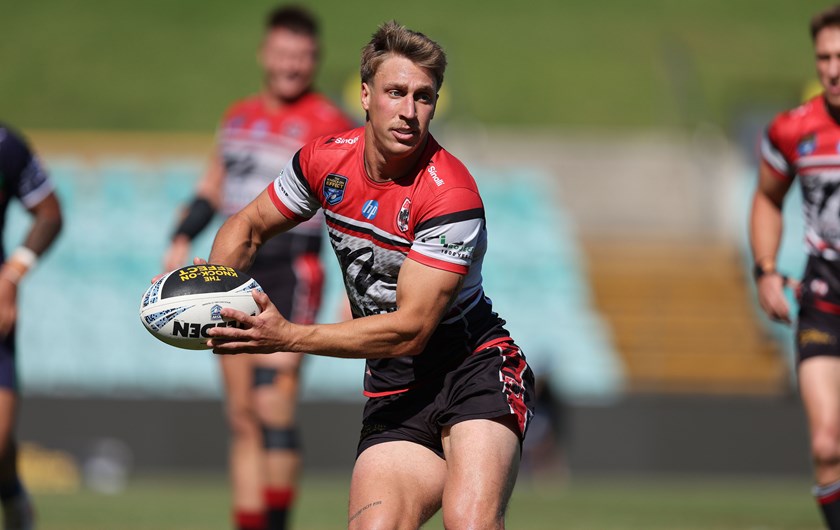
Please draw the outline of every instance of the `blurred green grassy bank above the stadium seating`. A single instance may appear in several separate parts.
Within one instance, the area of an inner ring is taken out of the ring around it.
[[[18,2],[0,30],[2,118],[23,128],[211,131],[256,90],[255,49],[275,2]],[[448,50],[449,117],[466,123],[728,125],[780,108],[812,77],[817,0],[303,1],[322,18],[321,88],[357,72],[396,18]],[[355,102],[353,103],[355,106]]]

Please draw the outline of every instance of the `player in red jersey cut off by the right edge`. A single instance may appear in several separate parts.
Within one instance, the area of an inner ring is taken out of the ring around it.
[[[762,142],[750,241],[761,307],[790,322],[776,270],[782,202],[795,180],[802,188],[808,264],[799,287],[796,343],[802,402],[808,416],[817,486],[831,529],[840,529],[840,6],[811,21],[823,93],[780,114]]]

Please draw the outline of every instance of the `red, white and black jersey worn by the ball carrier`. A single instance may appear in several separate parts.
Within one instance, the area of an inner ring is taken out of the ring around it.
[[[472,175],[431,136],[416,171],[374,182],[364,168],[364,128],[304,146],[269,186],[297,221],[323,209],[355,317],[397,309],[406,258],[464,275],[452,310],[416,357],[368,360],[369,396],[399,392],[439,375],[479,346],[507,339],[481,286],[487,248],[484,205]]]

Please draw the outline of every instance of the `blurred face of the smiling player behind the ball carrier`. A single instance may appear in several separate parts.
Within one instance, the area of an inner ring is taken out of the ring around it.
[[[308,35],[274,29],[263,40],[259,60],[266,90],[280,100],[294,100],[312,86],[318,67],[318,43]]]

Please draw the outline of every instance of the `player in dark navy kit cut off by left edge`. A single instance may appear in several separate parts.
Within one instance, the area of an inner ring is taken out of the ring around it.
[[[33,217],[23,244],[7,255],[0,246],[0,502],[5,530],[34,526],[29,497],[17,472],[14,430],[18,383],[15,323],[18,284],[61,230],[61,208],[43,166],[15,131],[0,123],[0,234],[6,209],[18,200]]]

